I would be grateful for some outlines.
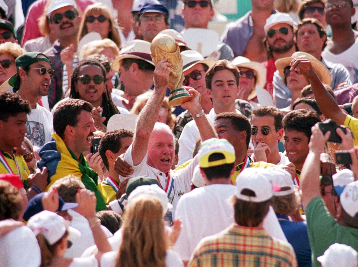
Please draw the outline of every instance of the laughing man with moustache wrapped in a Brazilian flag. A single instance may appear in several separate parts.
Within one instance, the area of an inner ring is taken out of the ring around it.
[[[106,203],[97,189],[98,174],[88,167],[83,156],[89,151],[89,138],[96,131],[92,117],[93,106],[80,99],[68,99],[58,105],[53,115],[53,140],[46,143],[40,150],[42,158],[38,167],[49,170],[47,189],[58,179],[66,175],[81,178],[87,189],[93,191],[97,198],[96,210],[106,210]]]

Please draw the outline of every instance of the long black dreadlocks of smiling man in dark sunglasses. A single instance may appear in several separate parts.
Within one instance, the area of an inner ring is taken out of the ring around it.
[[[73,70],[73,74],[72,74],[72,78],[71,78],[71,92],[70,92],[70,98],[74,98],[74,99],[80,99],[79,93],[76,92],[75,90],[75,86],[74,86],[74,82],[77,82],[78,79],[78,72],[81,69],[82,66],[85,65],[96,65],[99,66],[102,70],[102,74],[104,77],[104,81],[106,82],[106,69],[105,67],[103,67],[103,65],[101,64],[100,61],[98,61],[97,59],[94,58],[89,58],[89,59],[84,59],[82,61],[80,61],[77,66],[74,68]],[[106,120],[103,122],[104,125],[107,126],[107,122],[110,119],[111,116],[113,116],[114,114],[119,114],[120,112],[118,111],[116,105],[113,103],[112,101],[112,97],[110,95],[110,92],[108,91],[108,87],[106,85],[106,91],[103,92],[102,94],[102,117],[106,117]]]

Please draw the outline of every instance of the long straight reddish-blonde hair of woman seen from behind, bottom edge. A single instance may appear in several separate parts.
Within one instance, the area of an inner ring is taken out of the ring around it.
[[[163,207],[149,195],[133,198],[124,221],[123,241],[116,267],[165,267],[166,249]]]

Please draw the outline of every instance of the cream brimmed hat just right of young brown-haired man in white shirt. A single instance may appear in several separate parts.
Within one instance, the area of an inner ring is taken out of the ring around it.
[[[256,84],[255,87],[252,89],[250,94],[248,95],[247,99],[252,100],[256,97],[256,86],[264,87],[266,82],[266,68],[261,65],[261,63],[256,61],[251,61],[247,57],[244,56],[237,56],[232,61],[231,64],[237,66],[238,68],[243,67],[247,69],[253,70],[256,76]]]

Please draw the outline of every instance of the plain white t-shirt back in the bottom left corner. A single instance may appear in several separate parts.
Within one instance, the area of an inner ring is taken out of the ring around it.
[[[0,266],[38,267],[40,263],[40,247],[30,228],[20,226],[0,236]]]

